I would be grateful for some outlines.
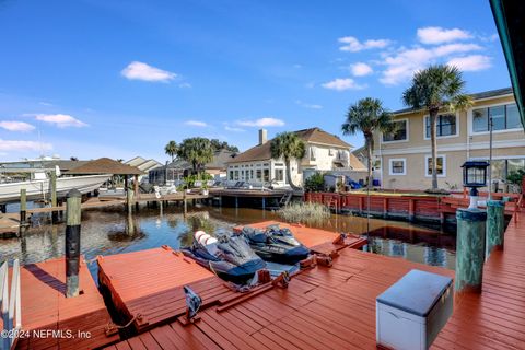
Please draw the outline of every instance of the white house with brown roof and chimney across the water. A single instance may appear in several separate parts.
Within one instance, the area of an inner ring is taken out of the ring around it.
[[[363,170],[359,160],[351,155],[352,145],[320,128],[294,131],[306,145],[302,160],[291,160],[291,177],[294,184],[303,182],[303,175],[313,172]],[[228,162],[228,179],[242,180],[253,185],[272,183],[273,186],[289,186],[284,161],[271,158],[267,130],[259,130],[257,145]]]

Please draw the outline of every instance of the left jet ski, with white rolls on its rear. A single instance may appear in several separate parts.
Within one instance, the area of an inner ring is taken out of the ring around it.
[[[266,267],[244,236],[225,233],[215,238],[203,231],[197,231],[194,237],[194,244],[183,248],[183,254],[209,268],[223,280],[244,284]]]

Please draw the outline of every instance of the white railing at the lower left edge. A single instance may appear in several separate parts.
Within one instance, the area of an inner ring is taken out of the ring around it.
[[[22,327],[19,259],[13,262],[11,293],[9,292],[8,261],[4,261],[0,268],[0,307],[2,312],[0,350],[8,350],[14,348],[18,331]]]

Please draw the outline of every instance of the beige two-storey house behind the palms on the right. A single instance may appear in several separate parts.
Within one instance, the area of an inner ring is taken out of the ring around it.
[[[474,106],[466,112],[443,110],[438,117],[438,180],[441,188],[463,187],[462,165],[467,160],[489,159],[489,120],[493,120],[492,179],[525,167],[525,133],[512,89],[472,94]],[[431,187],[429,116],[423,110],[395,113],[396,132],[377,133],[374,177],[389,189]]]

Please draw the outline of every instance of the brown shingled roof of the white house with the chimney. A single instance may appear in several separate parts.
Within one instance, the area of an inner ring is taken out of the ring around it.
[[[319,143],[334,145],[339,148],[349,149],[350,144],[339,139],[337,136],[328,133],[319,128],[311,128],[293,131],[295,132],[303,141],[310,143]],[[271,159],[270,152],[270,141],[262,144],[257,144],[247,151],[238,154],[229,163],[240,163],[240,162],[253,162],[253,161],[266,161]]]

